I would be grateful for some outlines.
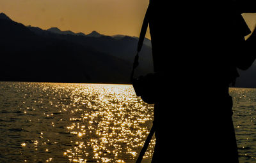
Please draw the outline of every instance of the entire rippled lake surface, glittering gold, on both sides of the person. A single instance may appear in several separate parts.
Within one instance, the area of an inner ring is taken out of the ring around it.
[[[256,89],[230,94],[239,160],[256,162]],[[131,85],[0,82],[0,162],[134,162],[152,116]]]

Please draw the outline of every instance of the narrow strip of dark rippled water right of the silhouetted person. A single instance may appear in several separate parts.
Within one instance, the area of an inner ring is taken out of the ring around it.
[[[239,162],[256,162],[256,89],[230,89]]]

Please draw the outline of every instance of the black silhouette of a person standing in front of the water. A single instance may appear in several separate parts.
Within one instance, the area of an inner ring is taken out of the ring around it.
[[[241,16],[255,11],[252,0],[150,1],[155,73],[140,87],[155,95],[152,162],[239,162],[228,87],[255,60]]]

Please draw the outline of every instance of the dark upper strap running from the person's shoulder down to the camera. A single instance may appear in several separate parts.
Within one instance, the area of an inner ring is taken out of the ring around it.
[[[140,31],[140,38],[139,38],[138,47],[137,47],[137,54],[134,57],[134,62],[133,62],[133,67],[132,67],[132,73],[131,73],[131,79],[130,79],[131,83],[132,83],[132,79],[134,77],[134,70],[136,69],[136,67],[139,66],[139,52],[142,48],[143,41],[144,41],[147,29],[148,29],[149,14],[150,14],[150,3],[148,4],[147,12],[145,14],[143,24],[141,27],[141,31]]]

